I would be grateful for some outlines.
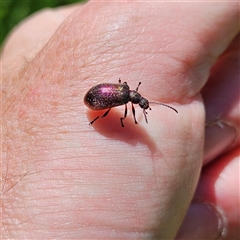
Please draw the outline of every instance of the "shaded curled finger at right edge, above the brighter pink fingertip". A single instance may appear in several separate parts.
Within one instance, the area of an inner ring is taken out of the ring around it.
[[[202,91],[206,107],[204,164],[239,145],[240,34],[212,68]]]

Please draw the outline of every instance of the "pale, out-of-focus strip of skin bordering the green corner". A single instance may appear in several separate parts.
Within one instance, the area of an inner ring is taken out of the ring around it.
[[[44,9],[24,19],[5,40],[2,52],[3,68],[9,70],[30,61],[49,41],[59,25],[78,6]]]

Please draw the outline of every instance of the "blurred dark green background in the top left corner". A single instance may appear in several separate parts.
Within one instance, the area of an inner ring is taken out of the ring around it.
[[[5,37],[22,19],[42,8],[54,8],[86,0],[1,0],[1,39],[2,45]]]

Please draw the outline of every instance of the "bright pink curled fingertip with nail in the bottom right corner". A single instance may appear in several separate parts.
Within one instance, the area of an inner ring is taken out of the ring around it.
[[[238,239],[240,149],[210,164],[202,174],[177,239]]]

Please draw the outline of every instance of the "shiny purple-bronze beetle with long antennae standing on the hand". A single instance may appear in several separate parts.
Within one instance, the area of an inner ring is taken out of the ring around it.
[[[101,118],[106,117],[111,108],[125,104],[124,117],[120,118],[122,127],[124,127],[123,120],[127,117],[128,102],[132,103],[133,119],[136,124],[138,122],[135,117],[135,108],[133,104],[139,104],[139,106],[143,109],[146,123],[148,123],[146,110],[151,110],[151,108],[149,107],[149,103],[163,105],[165,107],[171,108],[176,113],[178,113],[175,108],[170,107],[164,103],[149,102],[146,98],[143,98],[140,93],[138,93],[138,88],[140,85],[141,82],[138,83],[136,90],[130,90],[127,82],[121,83],[120,78],[118,84],[101,83],[89,89],[89,91],[84,97],[84,103],[88,108],[95,111],[107,109],[107,111],[101,116]],[[99,118],[100,116],[97,116],[89,124],[93,124]]]

